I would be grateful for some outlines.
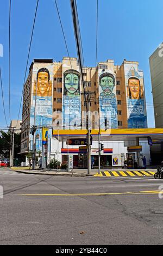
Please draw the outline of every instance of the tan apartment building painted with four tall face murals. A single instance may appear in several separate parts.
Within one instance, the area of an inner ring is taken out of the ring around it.
[[[99,124],[103,128],[105,118],[108,128],[147,127],[143,72],[139,70],[138,62],[124,59],[122,65],[118,66],[114,60],[108,59],[96,67],[83,68],[83,78],[85,91],[92,92],[92,129],[98,129]],[[32,149],[32,125],[53,125],[60,129],[86,127],[85,99],[77,58],[64,57],[62,62],[34,59],[24,84],[21,153]],[[36,148],[41,149],[41,129],[36,133],[39,135]],[[63,147],[62,143],[60,151]],[[106,147],[110,147],[109,144]]]

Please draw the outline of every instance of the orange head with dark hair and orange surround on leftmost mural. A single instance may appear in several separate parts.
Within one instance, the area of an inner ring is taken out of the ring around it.
[[[49,77],[49,71],[46,68],[42,68],[37,72],[37,95],[52,95],[52,82],[49,81]],[[34,84],[34,93],[36,93],[36,81]]]

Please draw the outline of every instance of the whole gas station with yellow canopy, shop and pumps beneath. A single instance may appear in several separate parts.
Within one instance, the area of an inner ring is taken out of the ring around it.
[[[87,168],[87,145],[86,145],[87,130],[55,130],[53,129],[53,138],[57,139],[61,143],[61,155],[62,160],[66,159],[64,156],[75,154],[74,158],[78,162],[79,168]],[[98,142],[99,130],[91,130],[92,142]],[[127,168],[139,168],[140,166],[140,154],[142,146],[140,142],[146,142],[149,147],[157,141],[163,140],[163,129],[108,129],[100,131],[100,142],[117,142],[123,143],[126,147],[126,153],[121,152],[121,158],[123,156],[123,162],[121,159],[121,166],[124,166],[124,161],[127,162]],[[67,147],[65,148],[64,143]],[[97,143],[96,143],[97,144]],[[71,145],[75,145],[73,148]],[[107,161],[112,161],[110,166],[118,165],[118,157],[114,154],[114,149],[103,148],[101,151],[102,165],[108,166]],[[150,150],[149,150],[150,154]],[[78,157],[77,157],[78,156]],[[93,159],[94,156],[94,159]],[[95,157],[96,156],[96,157]],[[112,159],[111,159],[112,158]],[[98,166],[98,147],[91,149],[91,162],[95,166]],[[123,163],[123,164],[122,164]],[[135,166],[136,164],[136,166]],[[77,165],[77,163],[76,163]],[[72,167],[74,168],[74,166]]]

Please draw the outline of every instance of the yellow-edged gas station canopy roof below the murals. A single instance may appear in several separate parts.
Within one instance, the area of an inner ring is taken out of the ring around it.
[[[74,138],[86,138],[87,130],[54,130],[53,137],[59,141]],[[93,141],[98,141],[98,130],[91,130]],[[136,138],[147,140],[151,138],[153,142],[163,141],[163,129],[108,129],[100,131],[101,141],[130,141]]]

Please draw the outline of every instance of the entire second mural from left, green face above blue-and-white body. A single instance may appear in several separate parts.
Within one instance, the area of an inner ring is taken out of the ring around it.
[[[62,120],[65,129],[81,124],[80,74],[77,70],[64,72]]]

